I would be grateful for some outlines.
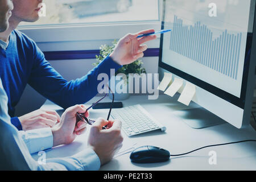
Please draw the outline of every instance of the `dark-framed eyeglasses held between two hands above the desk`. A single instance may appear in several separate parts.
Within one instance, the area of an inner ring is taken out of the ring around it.
[[[108,86],[109,88],[109,86]],[[112,93],[112,104],[110,105],[110,109],[109,109],[109,114],[108,114],[108,118],[107,118],[107,121],[109,121],[109,117],[110,117],[110,114],[111,114],[111,110],[112,110],[112,106],[113,106],[113,103],[114,103],[114,93],[112,92],[112,90],[109,88],[110,92]],[[93,106],[95,106],[96,104],[98,104],[98,102],[100,102],[101,100],[103,100],[106,96],[108,95],[108,93],[105,94],[104,97],[102,97],[100,100],[98,100],[97,102],[95,102],[93,105],[91,105],[90,107],[88,107],[88,109],[85,110],[85,113],[90,109],[92,108]],[[85,117],[85,113],[76,113],[77,114],[77,122],[79,122],[80,120],[81,121],[85,121],[86,123],[88,123],[88,125],[93,125],[93,123],[95,121],[93,121],[92,119],[88,119]],[[76,122],[76,123],[77,123]],[[106,129],[107,126],[104,126],[102,127],[102,129]]]

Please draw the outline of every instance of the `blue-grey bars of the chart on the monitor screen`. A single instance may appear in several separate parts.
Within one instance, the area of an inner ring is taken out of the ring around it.
[[[237,80],[241,39],[242,33],[229,34],[228,30],[214,38],[205,24],[184,26],[175,15],[170,50]]]

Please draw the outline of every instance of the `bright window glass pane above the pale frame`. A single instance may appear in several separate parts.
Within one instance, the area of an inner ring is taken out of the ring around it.
[[[159,20],[158,0],[44,0],[40,19],[21,26]]]

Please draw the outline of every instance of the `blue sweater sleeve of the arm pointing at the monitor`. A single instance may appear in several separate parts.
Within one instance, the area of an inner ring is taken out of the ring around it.
[[[87,75],[76,80],[65,80],[45,59],[44,54],[34,44],[34,64],[28,84],[55,104],[67,109],[76,104],[84,104],[98,93],[97,87],[100,73],[106,73],[110,78],[110,70],[121,68],[111,57],[107,56],[96,68]],[[75,72],[75,70],[70,70]]]

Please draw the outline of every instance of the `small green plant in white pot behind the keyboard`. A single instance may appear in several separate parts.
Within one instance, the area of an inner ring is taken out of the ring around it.
[[[112,53],[114,51],[115,46],[117,45],[117,40],[114,40],[114,42],[112,42],[112,46],[108,46],[108,45],[102,45],[100,47],[100,55],[96,55],[96,62],[93,63],[94,66],[97,66],[98,64],[101,63],[102,60],[105,59],[106,56],[108,56],[110,53]],[[142,73],[146,73],[146,69],[142,68],[142,60],[136,60],[133,63],[129,64],[129,65],[123,65],[122,68],[119,68],[117,72],[115,72],[115,76],[117,76],[119,73],[123,73],[124,75],[126,75],[126,80],[123,80],[122,78],[111,78],[111,79],[115,79],[115,85],[117,85],[117,80],[120,80],[123,82],[123,84],[127,84],[127,92],[126,93],[114,93],[114,97],[115,100],[125,100],[127,98],[129,98],[129,88],[128,88],[128,77],[130,73],[138,73],[139,75],[141,75]],[[110,85],[111,86],[111,85]],[[112,95],[110,94],[110,97]]]

